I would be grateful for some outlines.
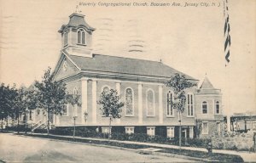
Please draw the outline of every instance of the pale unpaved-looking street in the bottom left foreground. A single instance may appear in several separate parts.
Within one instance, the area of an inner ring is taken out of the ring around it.
[[[81,143],[0,133],[0,160],[7,162],[192,162]],[[0,161],[1,162],[1,161]]]

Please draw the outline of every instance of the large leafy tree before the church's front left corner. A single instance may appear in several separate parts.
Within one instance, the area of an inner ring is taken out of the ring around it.
[[[47,133],[49,134],[49,114],[61,115],[67,104],[66,86],[62,82],[54,81],[51,69],[44,71],[41,82],[36,81],[36,97],[38,107],[47,113]]]

